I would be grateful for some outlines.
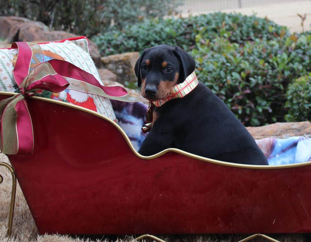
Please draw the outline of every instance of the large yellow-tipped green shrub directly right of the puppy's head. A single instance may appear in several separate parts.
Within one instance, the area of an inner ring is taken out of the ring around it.
[[[227,34],[214,39],[197,35],[191,54],[198,79],[246,126],[284,121],[287,85],[311,71],[311,35],[238,44],[230,43]]]

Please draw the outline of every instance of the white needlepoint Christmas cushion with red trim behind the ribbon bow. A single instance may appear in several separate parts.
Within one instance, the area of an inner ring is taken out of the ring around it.
[[[97,69],[89,54],[88,40],[86,37],[40,43],[39,45],[44,55],[44,61],[59,59],[71,62],[75,66],[92,74],[102,85]],[[18,92],[13,76],[17,54],[17,49],[0,49],[0,91]],[[69,89],[65,89],[57,94],[42,90],[38,91],[36,95],[85,107],[117,121],[108,98]]]

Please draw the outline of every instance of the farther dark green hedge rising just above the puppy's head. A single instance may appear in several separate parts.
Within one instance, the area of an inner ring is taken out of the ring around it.
[[[248,40],[275,39],[289,36],[285,27],[267,19],[241,14],[211,13],[188,18],[157,18],[128,25],[122,30],[111,30],[94,36],[102,55],[139,51],[158,44],[179,45],[190,51],[195,45],[195,36],[213,39],[229,35],[232,43]]]

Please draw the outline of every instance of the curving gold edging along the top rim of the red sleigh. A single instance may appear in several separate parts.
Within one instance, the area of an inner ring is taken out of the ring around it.
[[[8,95],[8,96],[12,96],[15,95],[16,93],[12,93],[12,92],[1,92],[0,91],[0,95]],[[262,170],[272,170],[272,169],[285,169],[285,168],[294,168],[294,167],[304,167],[304,166],[309,166],[311,164],[311,161],[308,162],[302,162],[302,163],[295,163],[295,164],[287,164],[287,165],[245,165],[245,164],[237,164],[237,163],[231,163],[231,162],[224,162],[224,161],[218,161],[218,160],[214,160],[214,159],[210,159],[210,158],[205,158],[202,156],[198,156],[192,153],[188,153],[185,152],[183,150],[180,149],[176,149],[176,148],[168,148],[165,149],[159,153],[156,153],[154,155],[151,156],[143,156],[141,154],[139,154],[136,149],[134,148],[134,146],[132,145],[132,142],[130,141],[130,139],[128,138],[128,136],[126,135],[126,133],[124,132],[124,130],[114,121],[112,121],[111,119],[109,119],[108,117],[92,111],[90,109],[84,108],[84,107],[79,107],[77,105],[74,105],[72,103],[65,103],[62,101],[58,101],[58,100],[54,100],[54,99],[49,99],[49,98],[42,98],[42,97],[30,97],[30,98],[34,98],[37,100],[41,100],[41,101],[45,101],[45,102],[49,102],[49,103],[55,103],[58,105],[62,105],[62,106],[66,106],[66,107],[71,107],[74,109],[78,109],[80,111],[92,114],[94,116],[100,117],[108,122],[110,122],[111,124],[113,124],[118,130],[119,132],[123,135],[124,139],[126,140],[126,142],[128,143],[128,146],[130,147],[130,149],[132,150],[132,152],[140,159],[143,160],[152,160],[155,158],[158,158],[162,155],[164,155],[167,152],[174,152],[174,153],[179,153],[181,155],[187,156],[189,158],[193,158],[196,160],[200,160],[200,161],[204,161],[204,162],[208,162],[208,163],[212,163],[212,164],[216,164],[216,165],[221,165],[221,166],[226,166],[226,167],[235,167],[235,168],[245,168],[245,169],[262,169]]]

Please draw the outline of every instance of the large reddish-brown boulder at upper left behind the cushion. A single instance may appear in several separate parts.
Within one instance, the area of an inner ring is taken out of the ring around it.
[[[26,18],[9,16],[0,17],[0,38],[6,39],[7,43],[16,41],[49,42],[62,39],[75,38],[79,35],[66,31],[49,31],[49,27],[39,21],[31,21]],[[2,27],[3,26],[3,27]],[[90,55],[97,68],[102,66],[97,44],[89,40]]]

